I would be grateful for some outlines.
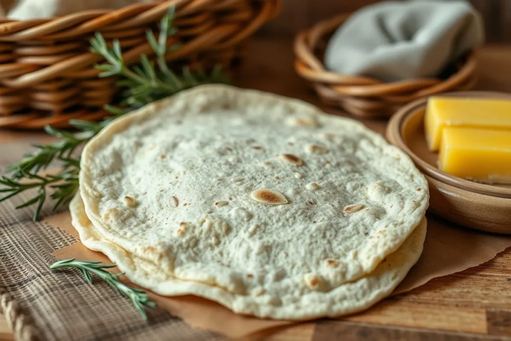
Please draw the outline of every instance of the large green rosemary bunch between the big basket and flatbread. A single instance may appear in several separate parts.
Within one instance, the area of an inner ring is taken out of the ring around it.
[[[60,139],[48,145],[36,145],[36,151],[24,155],[21,161],[10,165],[7,174],[0,177],[0,202],[18,195],[27,190],[37,189],[37,195],[17,208],[36,205],[34,220],[39,216],[46,195],[51,191],[50,197],[56,200],[54,210],[67,204],[78,189],[78,173],[80,170],[80,158],[74,157],[73,152],[89,139],[94,137],[101,129],[112,120],[124,115],[126,112],[142,107],[148,103],[171,96],[183,89],[205,83],[227,83],[227,77],[222,73],[221,67],[214,67],[210,75],[203,70],[195,73],[188,67],[184,67],[181,75],[177,75],[169,69],[166,61],[167,53],[179,48],[178,44],[167,46],[168,39],[177,30],[172,27],[174,8],[160,21],[158,37],[148,30],[146,37],[156,55],[156,64],[146,56],[141,57],[140,65],[127,67],[122,55],[119,40],[114,40],[109,47],[100,33],[96,33],[91,39],[92,51],[103,56],[105,64],[96,65],[103,72],[100,77],[121,76],[118,86],[125,88],[121,96],[122,108],[105,105],[110,116],[99,123],[82,120],[69,120],[78,132],[58,130],[51,126],[45,127],[45,131]],[[62,171],[53,175],[42,175],[41,170],[46,169],[53,161],[62,163]],[[29,181],[21,181],[29,180]]]

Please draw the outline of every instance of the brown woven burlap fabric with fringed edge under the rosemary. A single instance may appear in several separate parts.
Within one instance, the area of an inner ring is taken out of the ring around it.
[[[0,174],[32,150],[29,143],[0,144]],[[33,208],[15,210],[33,193],[0,203],[0,312],[17,340],[221,340],[193,329],[162,309],[148,310],[144,321],[107,283],[85,282],[75,269],[50,270],[55,249],[77,239],[43,222]],[[47,202],[42,215],[53,214]]]

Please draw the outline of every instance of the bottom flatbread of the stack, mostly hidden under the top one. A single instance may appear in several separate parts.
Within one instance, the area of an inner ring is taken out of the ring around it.
[[[288,320],[338,317],[367,309],[385,298],[419,259],[427,225],[424,218],[401,247],[388,255],[367,277],[342,284],[328,292],[314,292],[301,302],[276,306],[271,302],[272,298],[264,293],[255,297],[239,295],[217,286],[176,279],[154,263],[136,257],[104,238],[87,218],[79,194],[72,200],[69,209],[82,243],[104,253],[133,283],[160,295],[193,294],[216,301],[236,313]]]

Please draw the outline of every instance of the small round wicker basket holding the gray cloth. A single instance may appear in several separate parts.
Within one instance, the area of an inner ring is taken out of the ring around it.
[[[455,65],[447,79],[413,79],[384,83],[363,76],[327,71],[321,60],[332,33],[349,17],[342,14],[300,32],[294,44],[297,73],[312,82],[321,100],[361,118],[390,117],[400,106],[416,99],[452,90],[472,88],[476,82],[476,53]]]

